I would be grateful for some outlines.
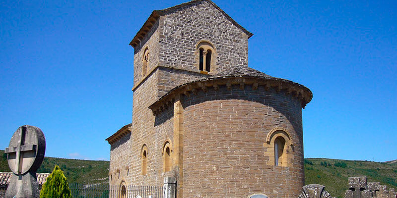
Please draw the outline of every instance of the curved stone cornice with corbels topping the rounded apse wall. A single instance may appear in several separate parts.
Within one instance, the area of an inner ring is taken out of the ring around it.
[[[258,89],[259,86],[263,86],[266,91],[274,89],[276,92],[284,92],[299,99],[301,101],[302,108],[305,108],[306,104],[313,98],[312,92],[308,88],[292,81],[277,78],[266,79],[253,76],[220,77],[203,79],[178,86],[151,104],[149,108],[152,110],[153,114],[156,115],[168,106],[173,105],[175,98],[178,95],[189,97],[191,94],[197,95],[199,90],[202,90],[203,92],[207,92],[209,88],[218,90],[219,86],[225,86],[226,89],[231,90],[232,86],[236,85],[238,85],[242,90],[245,88],[245,85],[252,85],[253,90]]]

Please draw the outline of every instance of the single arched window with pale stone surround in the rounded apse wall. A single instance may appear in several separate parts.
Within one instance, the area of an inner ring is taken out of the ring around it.
[[[276,127],[267,134],[267,144],[264,145],[267,165],[290,166],[294,151],[290,137],[289,132],[282,127]]]

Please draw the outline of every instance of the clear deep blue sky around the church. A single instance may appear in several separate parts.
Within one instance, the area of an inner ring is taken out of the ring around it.
[[[152,10],[186,1],[0,2],[0,149],[29,124],[46,156],[109,159],[132,120],[129,46]],[[313,92],[305,157],[397,159],[397,1],[214,0],[254,36],[249,66]]]

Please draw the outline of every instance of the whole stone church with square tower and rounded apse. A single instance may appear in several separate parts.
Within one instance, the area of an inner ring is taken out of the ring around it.
[[[312,92],[248,66],[244,29],[210,0],[155,10],[132,39],[132,123],[108,139],[111,185],[177,198],[297,198]]]

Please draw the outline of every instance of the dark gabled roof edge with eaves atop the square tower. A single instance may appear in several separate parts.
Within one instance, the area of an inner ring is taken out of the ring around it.
[[[212,2],[211,0],[192,0],[186,3],[182,3],[179,5],[175,5],[173,7],[169,7],[169,8],[165,8],[165,9],[161,9],[161,10],[154,10],[149,18],[146,20],[146,22],[143,24],[143,26],[140,28],[140,30],[136,33],[136,35],[133,37],[132,41],[130,42],[130,46],[132,47],[136,47],[142,40],[143,38],[146,36],[146,34],[151,30],[151,28],[153,27],[153,25],[156,23],[156,21],[158,20],[159,16],[164,16],[166,14],[168,14],[169,12],[172,12],[174,10],[177,10],[178,8],[181,8],[183,6],[187,6],[187,5],[191,5],[194,4],[196,2],[199,1],[207,1],[210,4],[212,4],[216,9],[218,9],[220,12],[222,12],[222,14],[229,19],[235,26],[237,26],[238,28],[240,28],[244,33],[246,33],[248,35],[248,38],[250,38],[252,35],[251,32],[249,32],[248,30],[246,30],[245,28],[243,28],[243,26],[241,26],[240,24],[238,24],[235,20],[233,20],[232,17],[230,17],[228,14],[226,14],[225,11],[223,11],[220,7],[218,7],[214,2]]]

